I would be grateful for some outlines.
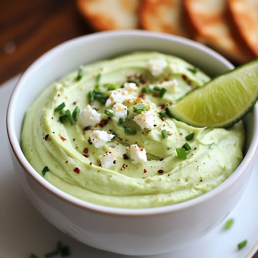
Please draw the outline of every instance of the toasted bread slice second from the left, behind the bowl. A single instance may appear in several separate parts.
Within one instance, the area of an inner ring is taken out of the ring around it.
[[[188,37],[181,0],[142,0],[142,28]]]

